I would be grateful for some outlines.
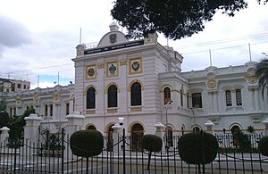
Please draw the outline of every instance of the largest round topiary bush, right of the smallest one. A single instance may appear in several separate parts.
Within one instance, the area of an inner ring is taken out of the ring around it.
[[[182,161],[190,164],[206,164],[214,161],[219,145],[216,137],[201,131],[180,137],[178,148]]]

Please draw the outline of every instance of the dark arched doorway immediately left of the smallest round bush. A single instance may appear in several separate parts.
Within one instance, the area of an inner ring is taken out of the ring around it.
[[[143,134],[143,126],[139,123],[135,123],[131,128],[131,151],[141,150],[141,137],[143,137]]]

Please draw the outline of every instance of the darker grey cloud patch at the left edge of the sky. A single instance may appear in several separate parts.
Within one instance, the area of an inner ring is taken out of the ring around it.
[[[17,47],[31,42],[29,29],[2,14],[0,14],[0,38],[0,52],[3,52],[3,46]]]

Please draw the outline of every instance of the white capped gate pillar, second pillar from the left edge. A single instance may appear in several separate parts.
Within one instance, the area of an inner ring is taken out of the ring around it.
[[[38,128],[43,119],[38,117],[38,114],[30,114],[29,117],[25,117],[24,120],[26,121],[24,139],[31,142],[38,142]]]

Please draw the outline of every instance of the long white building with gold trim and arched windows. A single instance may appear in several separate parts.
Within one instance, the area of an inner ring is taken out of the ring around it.
[[[155,133],[157,122],[167,122],[173,134],[205,129],[207,120],[215,131],[264,129],[267,97],[263,100],[255,78],[256,62],[181,72],[183,57],[157,43],[156,34],[129,40],[115,23],[96,47],[76,48],[75,85],[13,93],[6,100],[8,112],[35,107],[42,124],[56,129],[77,111],[86,117],[84,128],[107,136],[118,117],[129,135]]]

